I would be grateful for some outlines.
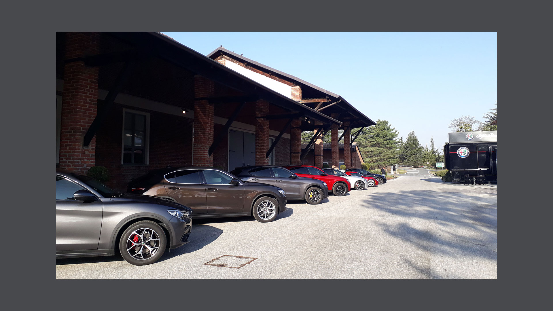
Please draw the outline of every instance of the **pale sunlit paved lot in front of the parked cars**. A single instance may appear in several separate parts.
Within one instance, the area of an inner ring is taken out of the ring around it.
[[[319,205],[290,202],[269,223],[195,220],[190,241],[148,266],[56,260],[56,278],[497,279],[497,185],[400,177]],[[224,255],[255,260],[205,265]]]

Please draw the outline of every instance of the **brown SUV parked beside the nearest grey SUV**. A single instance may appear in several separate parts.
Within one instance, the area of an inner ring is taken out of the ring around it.
[[[127,193],[156,196],[186,205],[194,211],[192,218],[253,215],[260,222],[269,222],[286,210],[284,190],[244,182],[213,167],[151,170],[131,180]]]

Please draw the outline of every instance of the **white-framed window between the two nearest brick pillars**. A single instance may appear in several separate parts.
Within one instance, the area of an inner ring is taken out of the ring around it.
[[[150,114],[123,110],[122,164],[148,164]]]

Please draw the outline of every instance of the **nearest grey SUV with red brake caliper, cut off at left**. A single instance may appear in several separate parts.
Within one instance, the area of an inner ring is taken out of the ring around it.
[[[56,258],[121,256],[136,266],[188,243],[192,210],[169,200],[122,194],[85,175],[56,170]]]

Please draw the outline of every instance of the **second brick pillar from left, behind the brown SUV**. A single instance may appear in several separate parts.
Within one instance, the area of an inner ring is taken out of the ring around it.
[[[194,97],[208,97],[213,94],[213,81],[194,76]],[[213,154],[208,155],[213,143],[213,104],[207,100],[194,100],[194,145],[192,164],[195,166],[213,166]]]

